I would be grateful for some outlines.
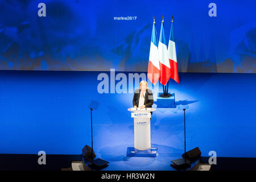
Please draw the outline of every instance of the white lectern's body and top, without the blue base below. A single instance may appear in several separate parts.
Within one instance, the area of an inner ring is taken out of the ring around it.
[[[131,117],[134,118],[134,148],[137,150],[150,149],[150,112],[156,109],[147,108],[147,110],[134,110],[129,108],[128,110],[133,112],[131,113]]]

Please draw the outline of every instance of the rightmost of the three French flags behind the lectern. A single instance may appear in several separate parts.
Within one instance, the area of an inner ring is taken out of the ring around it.
[[[176,47],[174,42],[174,30],[171,26],[170,39],[168,44],[168,57],[171,65],[171,78],[176,82],[179,82],[179,75],[177,71],[177,57],[176,57]]]

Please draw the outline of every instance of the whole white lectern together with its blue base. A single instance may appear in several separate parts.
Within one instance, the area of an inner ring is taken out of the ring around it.
[[[134,147],[127,147],[127,156],[156,157],[157,148],[151,147],[150,118],[155,108],[128,109],[134,118]]]

